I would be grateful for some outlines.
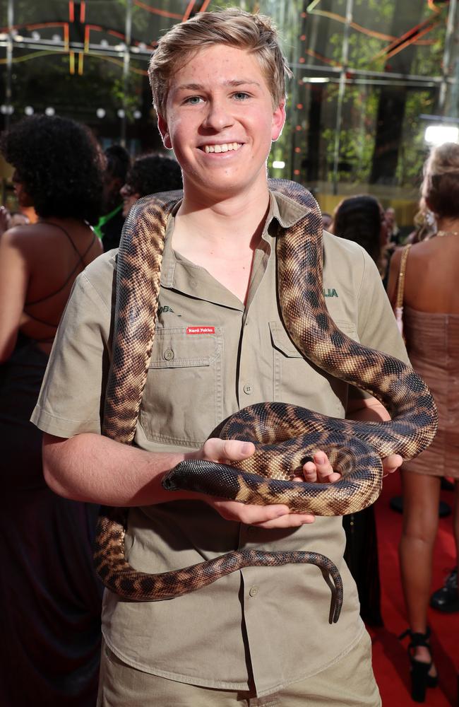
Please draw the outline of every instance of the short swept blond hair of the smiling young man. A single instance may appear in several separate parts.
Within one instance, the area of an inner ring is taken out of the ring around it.
[[[165,117],[170,79],[203,47],[227,45],[254,54],[266,78],[274,107],[285,101],[285,77],[291,77],[287,59],[278,44],[278,33],[269,17],[239,8],[202,12],[174,25],[158,42],[148,76],[153,105]]]

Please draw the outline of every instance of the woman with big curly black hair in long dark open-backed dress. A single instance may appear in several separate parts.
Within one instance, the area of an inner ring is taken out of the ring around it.
[[[95,703],[100,586],[94,511],[44,483],[42,435],[30,423],[73,281],[102,252],[90,223],[102,158],[72,120],[34,116],[1,136],[20,206],[39,220],[0,236],[0,703]]]

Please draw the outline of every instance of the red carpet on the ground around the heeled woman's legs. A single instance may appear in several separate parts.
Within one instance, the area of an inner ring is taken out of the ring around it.
[[[383,707],[416,705],[410,698],[407,639],[403,644],[397,636],[407,628],[400,574],[398,571],[398,540],[402,527],[400,513],[389,508],[392,496],[400,495],[400,477],[397,473],[384,479],[381,497],[376,502],[378,553],[381,573],[381,611],[384,628],[371,629],[373,638],[373,665]],[[442,491],[441,498],[450,506],[453,493]],[[413,562],[416,559],[413,558]],[[455,549],[451,515],[440,519],[434,556],[434,589],[443,585],[443,579],[455,564]],[[439,686],[427,691],[427,707],[458,707],[459,673],[459,612],[441,614],[429,609],[431,645],[439,670]]]

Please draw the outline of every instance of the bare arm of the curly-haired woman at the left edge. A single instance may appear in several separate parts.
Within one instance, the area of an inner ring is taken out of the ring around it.
[[[0,363],[8,361],[18,338],[29,280],[22,228],[0,235]]]

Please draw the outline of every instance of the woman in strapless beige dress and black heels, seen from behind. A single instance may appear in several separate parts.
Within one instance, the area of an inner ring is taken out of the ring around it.
[[[431,151],[424,168],[422,197],[435,214],[437,233],[408,252],[403,322],[412,366],[436,399],[439,432],[428,450],[403,464],[399,548],[409,621],[405,635],[410,636],[412,697],[418,702],[424,701],[426,687],[437,683],[427,607],[443,476],[455,479],[456,552],[459,547],[459,145],[443,144]],[[393,304],[402,250],[395,252],[391,261],[388,295]],[[448,610],[455,611],[459,609],[457,566],[448,583]]]

